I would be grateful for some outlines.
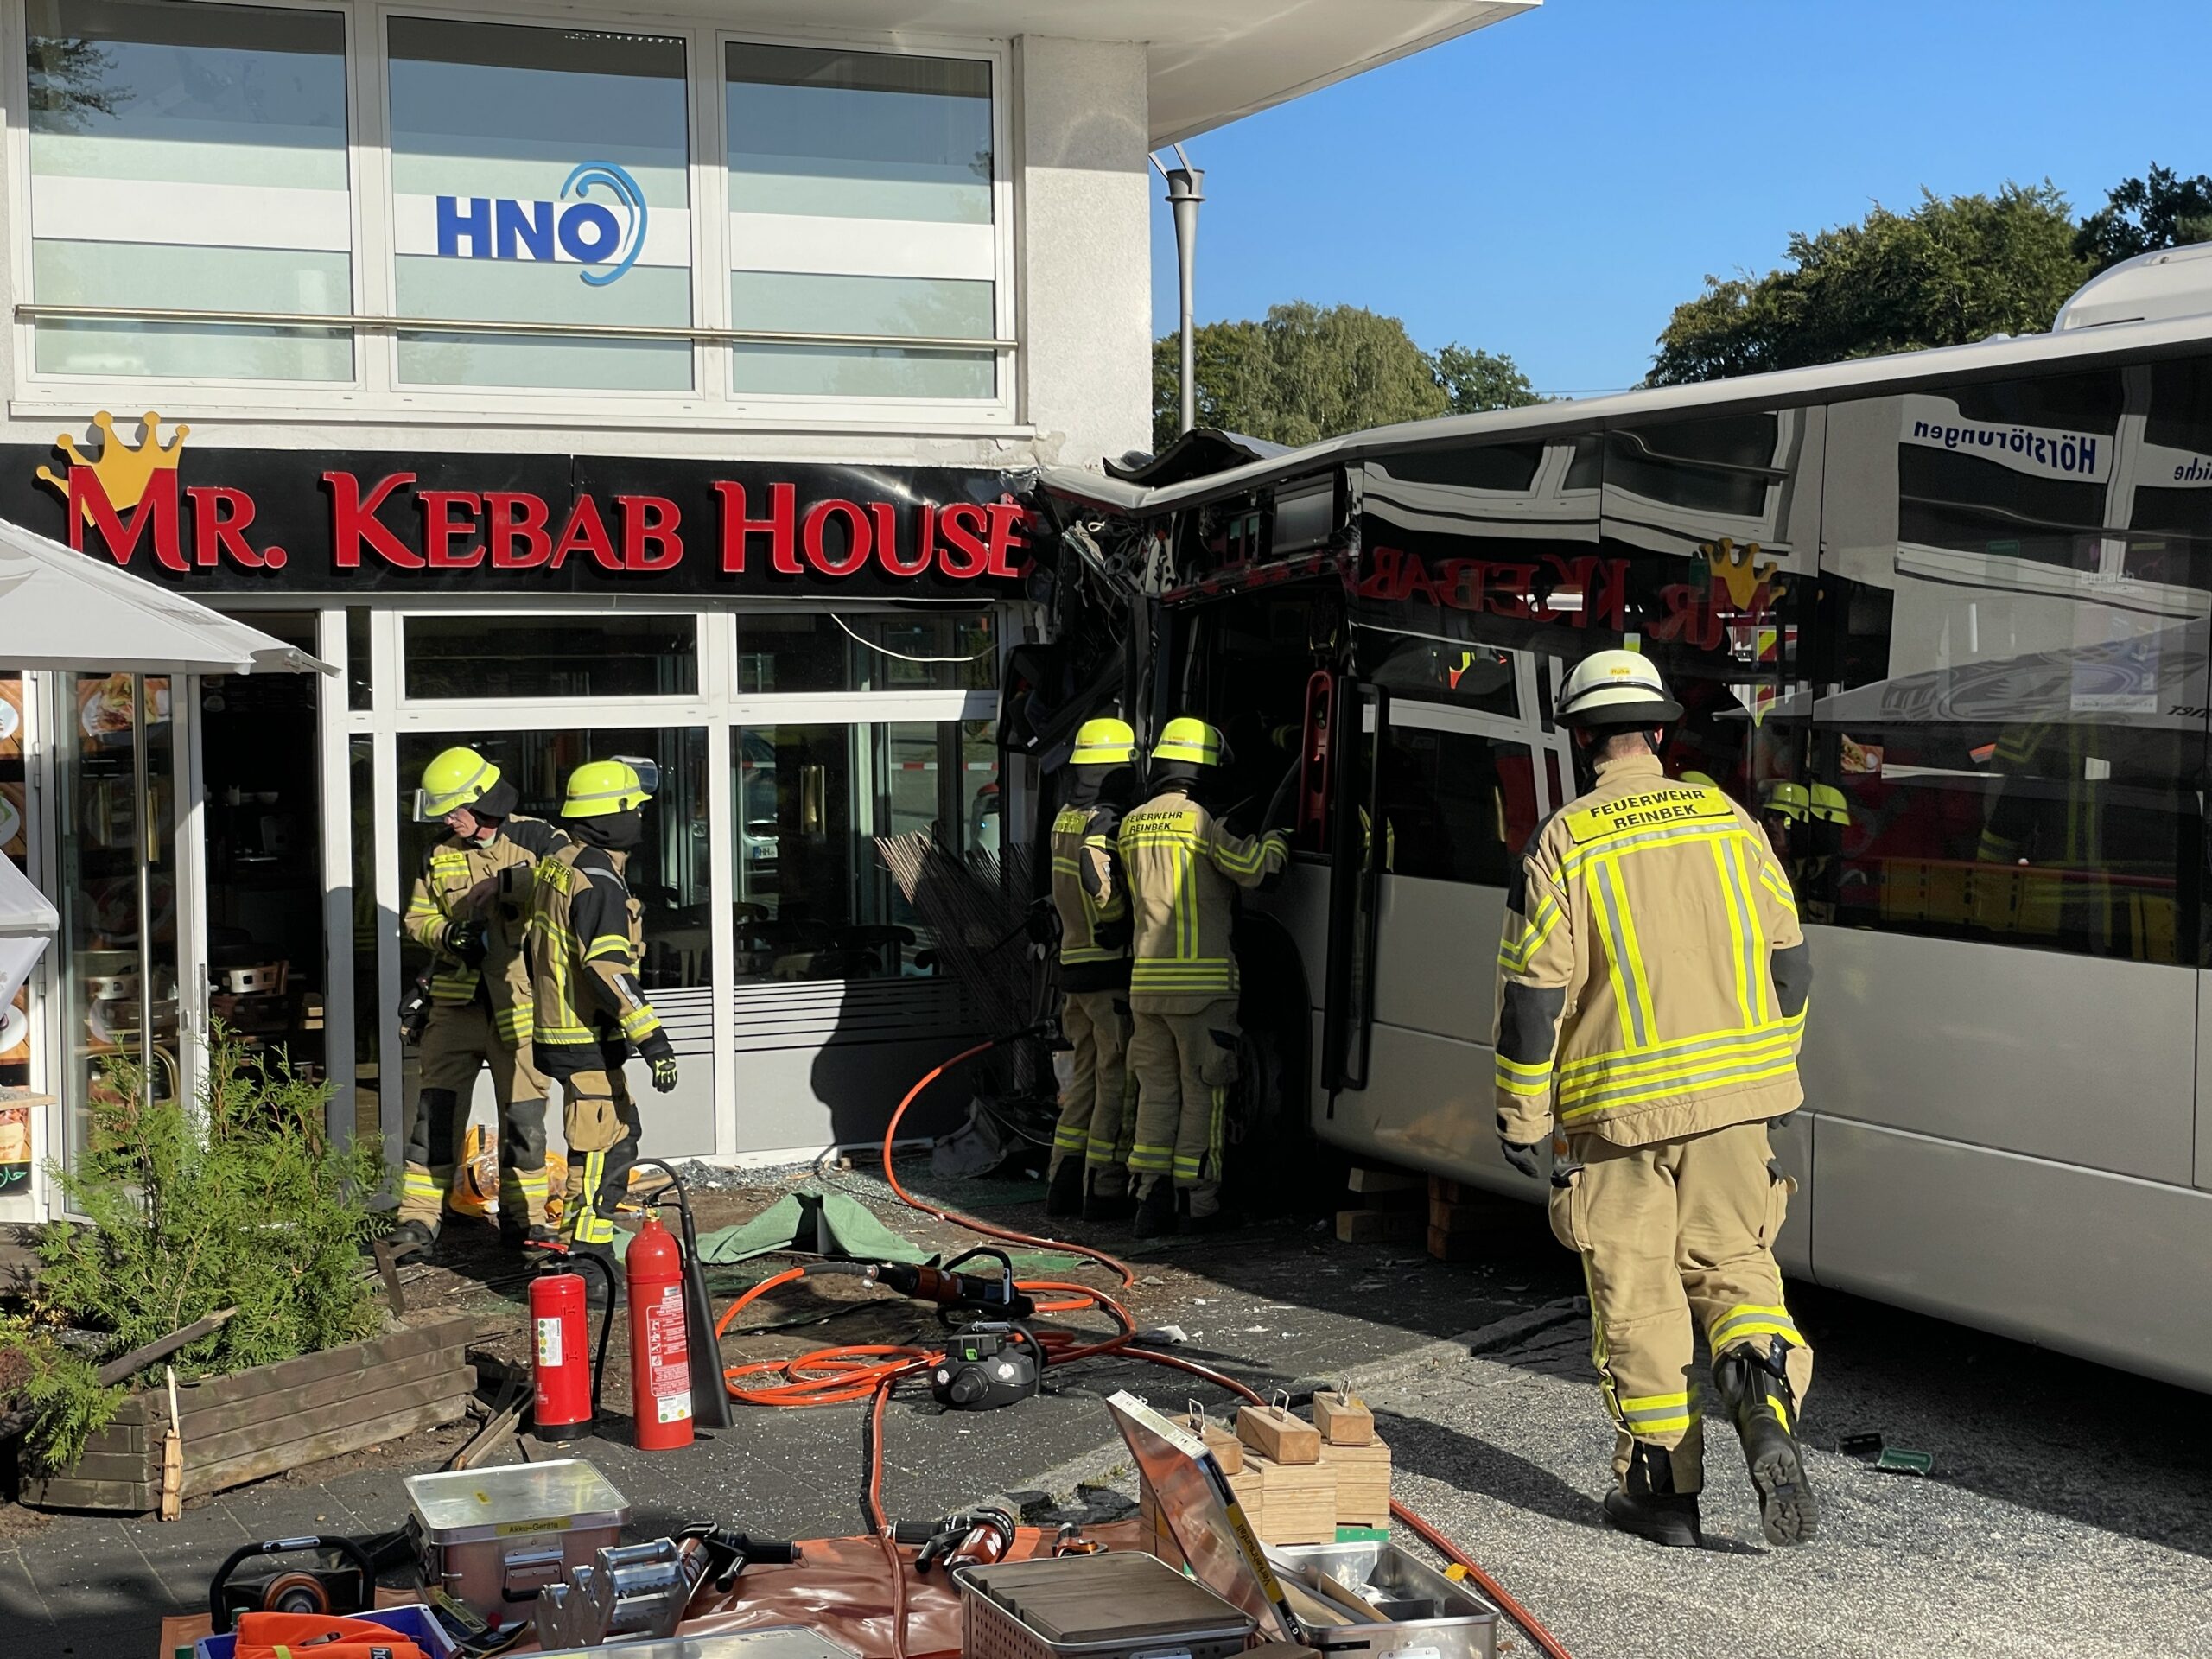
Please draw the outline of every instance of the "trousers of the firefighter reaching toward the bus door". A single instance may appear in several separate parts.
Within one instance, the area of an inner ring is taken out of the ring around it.
[[[1159,1004],[1168,1009],[1161,1011]],[[1141,1199],[1161,1179],[1188,1194],[1192,1217],[1221,1208],[1221,1150],[1237,1082],[1237,998],[1130,998],[1128,1068],[1137,1073],[1137,1133],[1128,1152]]]

